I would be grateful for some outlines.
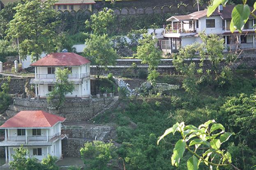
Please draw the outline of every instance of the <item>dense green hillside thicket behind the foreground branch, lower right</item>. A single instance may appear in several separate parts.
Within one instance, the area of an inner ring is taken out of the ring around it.
[[[180,139],[166,136],[156,145],[158,136],[175,124],[185,122],[198,127],[207,120],[215,119],[232,135],[223,147],[232,155],[232,163],[240,169],[251,170],[256,164],[255,155],[255,100],[256,80],[254,70],[236,70],[233,79],[225,87],[203,84],[194,95],[180,90],[168,96],[148,96],[123,100],[118,109],[95,118],[96,123],[115,122],[117,138],[122,145],[118,154],[131,170],[184,170],[192,156],[185,151],[178,167],[171,165],[175,143]],[[157,80],[182,84],[182,76],[164,75]],[[239,93],[246,93],[238,95]],[[248,97],[250,96],[251,97]],[[248,117],[248,118],[247,118]],[[239,139],[240,136],[240,139]],[[205,150],[206,151],[206,150]],[[245,168],[244,168],[245,167]],[[201,163],[200,170],[208,170]]]

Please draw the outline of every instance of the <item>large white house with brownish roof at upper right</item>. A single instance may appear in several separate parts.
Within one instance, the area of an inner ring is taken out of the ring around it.
[[[255,19],[250,16],[242,33],[230,32],[231,13],[235,5],[220,5],[214,13],[207,17],[207,9],[196,11],[188,15],[172,16],[163,32],[163,39],[159,46],[165,53],[177,52],[179,48],[194,42],[201,42],[198,33],[217,34],[225,39],[227,49],[255,48],[255,35],[253,25]],[[251,8],[251,10],[253,10]]]

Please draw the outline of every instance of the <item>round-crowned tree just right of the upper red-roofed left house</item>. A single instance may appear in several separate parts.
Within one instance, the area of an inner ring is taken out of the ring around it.
[[[108,65],[115,65],[117,59],[116,51],[107,34],[91,34],[90,39],[86,39],[84,54],[92,61],[92,64],[96,65],[98,79],[103,69],[107,70]]]

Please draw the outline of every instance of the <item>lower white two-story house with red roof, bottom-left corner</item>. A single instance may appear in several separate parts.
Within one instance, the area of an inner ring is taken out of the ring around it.
[[[65,120],[44,111],[20,111],[8,119],[0,129],[5,129],[4,141],[6,163],[12,161],[14,148],[21,145],[28,148],[29,156],[42,160],[48,154],[62,156],[61,140],[67,137],[61,134],[61,123]]]

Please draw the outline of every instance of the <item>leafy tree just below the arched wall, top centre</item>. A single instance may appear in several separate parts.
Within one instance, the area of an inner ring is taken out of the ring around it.
[[[90,21],[86,20],[87,28],[92,29],[93,34],[102,35],[108,34],[109,27],[114,23],[114,11],[112,9],[104,8],[102,11],[91,15]]]

